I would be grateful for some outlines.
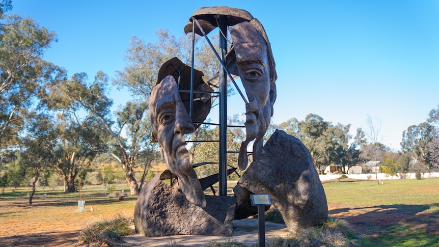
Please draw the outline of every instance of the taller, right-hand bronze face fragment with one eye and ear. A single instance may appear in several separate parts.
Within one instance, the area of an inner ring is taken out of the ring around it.
[[[257,159],[261,154],[263,137],[270,124],[276,100],[276,71],[271,49],[262,25],[254,20],[241,22],[229,29],[233,39],[237,72],[249,99],[249,103],[245,105],[246,140],[242,142],[239,152],[238,166],[241,170],[247,166],[246,149],[249,142],[255,140],[253,159]]]

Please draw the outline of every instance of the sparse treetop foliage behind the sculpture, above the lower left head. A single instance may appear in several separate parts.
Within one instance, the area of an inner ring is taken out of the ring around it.
[[[173,57],[190,64],[191,35],[176,38],[168,30],[158,30],[157,42],[150,43],[133,36],[125,53],[127,65],[122,71],[116,71],[113,84],[118,88],[127,88],[132,96],[148,101],[149,93],[156,83],[160,66]],[[196,37],[195,69],[203,71],[207,78],[213,77],[219,63],[210,51],[204,39]],[[216,42],[218,43],[218,42]]]

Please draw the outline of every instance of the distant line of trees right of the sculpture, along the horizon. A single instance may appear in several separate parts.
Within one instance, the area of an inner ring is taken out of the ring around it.
[[[350,124],[326,122],[318,115],[309,114],[304,121],[290,119],[278,126],[298,138],[310,150],[320,173],[332,164],[342,167],[342,172],[355,164],[381,161],[382,171],[389,175],[439,170],[439,105],[432,109],[427,121],[412,125],[402,133],[401,151],[394,152],[380,143],[380,122],[369,116],[365,129],[357,128],[355,136],[349,134]]]

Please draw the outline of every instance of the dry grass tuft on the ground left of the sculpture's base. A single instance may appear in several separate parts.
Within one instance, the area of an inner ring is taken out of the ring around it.
[[[132,230],[129,228],[131,224],[131,218],[123,215],[99,219],[96,222],[87,224],[79,232],[79,242],[119,241],[122,236],[132,234]]]

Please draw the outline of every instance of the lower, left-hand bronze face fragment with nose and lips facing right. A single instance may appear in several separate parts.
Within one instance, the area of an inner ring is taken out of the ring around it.
[[[153,138],[159,143],[167,168],[178,177],[178,184],[187,200],[204,207],[204,193],[189,162],[184,139],[184,134],[194,132],[195,128],[180,99],[174,77],[167,76],[157,84],[149,100]]]

